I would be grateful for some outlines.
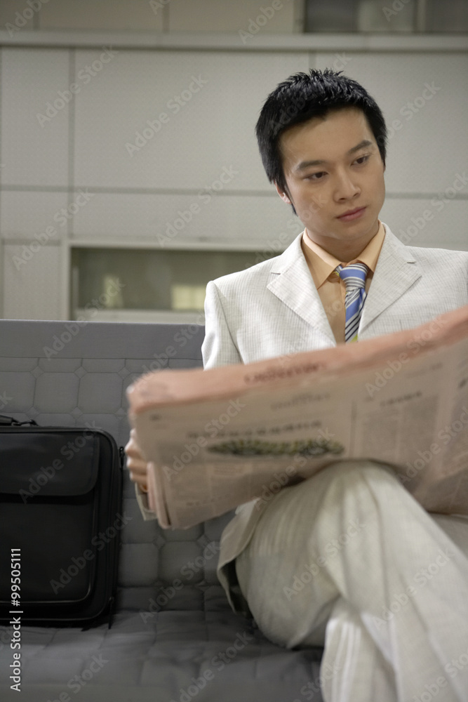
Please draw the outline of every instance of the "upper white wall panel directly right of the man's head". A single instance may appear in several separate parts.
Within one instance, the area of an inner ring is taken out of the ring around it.
[[[468,55],[348,53],[344,72],[384,112],[389,129],[387,189],[437,192],[468,161]],[[316,67],[333,65],[319,53]],[[431,89],[427,88],[431,86]],[[394,120],[396,130],[392,128]]]

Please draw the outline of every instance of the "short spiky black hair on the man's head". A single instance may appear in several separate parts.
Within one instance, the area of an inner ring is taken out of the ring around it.
[[[279,148],[279,138],[286,129],[345,107],[357,107],[366,115],[385,166],[387,127],[377,102],[342,71],[311,69],[309,74],[295,73],[276,86],[260,112],[255,134],[269,182],[287,192]]]

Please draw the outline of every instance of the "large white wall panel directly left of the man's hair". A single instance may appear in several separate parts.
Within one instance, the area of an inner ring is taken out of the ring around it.
[[[78,51],[77,75],[95,58]],[[267,190],[255,122],[269,91],[307,66],[305,53],[119,51],[76,95],[75,183],[201,188],[233,166],[229,190]]]

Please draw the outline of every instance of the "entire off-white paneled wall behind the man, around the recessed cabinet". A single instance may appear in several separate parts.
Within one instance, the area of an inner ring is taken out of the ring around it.
[[[149,13],[144,29],[159,31],[158,22],[170,18],[171,30],[185,31],[186,22],[193,25],[189,30],[202,31],[203,13],[206,19],[213,3],[210,30],[222,29],[229,16],[232,32],[234,25],[242,27],[243,18],[253,18],[257,5],[269,5],[242,0],[229,8],[223,4],[221,11],[214,0],[197,0],[201,12],[189,0],[171,0],[163,13],[154,15],[146,0],[133,14],[123,0],[102,0],[93,8],[90,3],[64,0],[55,13],[51,3],[48,19],[46,4],[31,23],[44,28],[46,22],[49,27],[53,22],[65,27],[65,22],[79,28],[84,27],[80,22],[88,22],[86,27],[99,29],[114,11],[115,28],[122,22],[134,23],[128,29],[138,28]],[[293,1],[283,4],[286,10]],[[84,6],[91,8],[89,16],[79,18],[72,8]],[[10,21],[13,13],[14,20],[15,12],[24,8],[10,0],[0,8],[0,19]],[[279,20],[278,14],[259,30],[260,42],[263,31],[279,31]],[[69,75],[70,58],[76,59],[74,78]],[[254,128],[267,93],[309,64],[344,68],[384,110],[390,130],[389,196],[382,220],[408,244],[468,250],[468,55],[462,51],[3,48],[0,182],[8,187],[0,194],[4,317],[63,316],[67,246],[73,240],[158,246],[158,237],[176,230],[165,237],[166,246],[238,244],[258,251],[258,260],[262,252],[287,246],[302,226],[267,182]],[[207,82],[199,86],[194,82],[199,78]],[[69,91],[71,82],[79,90],[60,106],[60,91]],[[422,97],[426,84],[440,88],[429,99]],[[47,103],[56,100],[56,114],[41,126],[37,115],[45,114]],[[408,103],[414,106],[410,119]],[[166,121],[160,128],[156,125],[157,133],[146,132],[144,143],[131,156],[126,145],[135,144],[136,133],[142,134],[161,112]],[[396,119],[398,130],[392,126]],[[30,186],[33,190],[24,190]],[[71,199],[65,188],[73,188]],[[90,197],[81,199],[76,214],[64,223],[60,211],[76,200],[80,188],[88,189]],[[107,192],[93,192],[95,188]],[[200,194],[206,189],[209,201]],[[199,210],[181,227],[181,213],[194,204]],[[69,244],[67,225],[72,232]],[[55,227],[57,237],[39,245],[48,226]],[[13,256],[27,260],[15,265]]]

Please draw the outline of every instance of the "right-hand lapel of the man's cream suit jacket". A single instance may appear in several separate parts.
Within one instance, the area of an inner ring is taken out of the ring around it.
[[[406,293],[421,277],[420,268],[408,248],[385,225],[385,239],[363,307],[359,333]]]

